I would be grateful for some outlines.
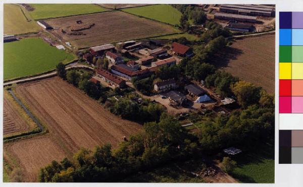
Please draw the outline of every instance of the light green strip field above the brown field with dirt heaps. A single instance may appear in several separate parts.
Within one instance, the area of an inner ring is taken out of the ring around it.
[[[94,4],[30,4],[35,10],[30,15],[35,20],[79,14],[104,12],[107,9]]]

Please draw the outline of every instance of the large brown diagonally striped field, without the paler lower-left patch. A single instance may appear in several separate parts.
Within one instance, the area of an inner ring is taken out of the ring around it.
[[[49,132],[72,152],[105,143],[117,146],[123,136],[140,129],[139,124],[111,114],[58,77],[22,84],[16,91]]]

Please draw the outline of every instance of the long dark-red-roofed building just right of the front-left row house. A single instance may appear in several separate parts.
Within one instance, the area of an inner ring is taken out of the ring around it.
[[[133,77],[140,77],[140,78],[147,77],[151,74],[151,72],[148,69],[137,71],[124,64],[113,65],[111,67],[111,72],[118,76],[124,77],[128,80],[131,80]]]

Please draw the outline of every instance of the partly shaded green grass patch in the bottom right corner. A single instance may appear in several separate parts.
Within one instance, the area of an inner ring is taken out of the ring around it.
[[[237,168],[232,176],[244,183],[274,183],[275,182],[275,150],[274,145],[254,151],[254,153],[241,153]]]

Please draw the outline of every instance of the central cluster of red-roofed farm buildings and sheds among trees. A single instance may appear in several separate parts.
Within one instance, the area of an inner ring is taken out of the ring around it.
[[[83,54],[83,59],[91,66],[96,67],[91,81],[96,84],[101,83],[112,87],[125,88],[127,86],[126,82],[130,82],[134,77],[147,78],[155,74],[160,67],[177,65],[182,57],[193,55],[192,48],[189,46],[177,42],[168,46],[161,41],[136,42],[132,40],[117,43],[116,46],[105,44],[90,47],[89,52]],[[100,68],[96,64],[99,58],[109,61],[109,70]],[[197,103],[213,101],[208,93],[198,85],[189,84],[181,90],[179,85],[181,83],[174,79],[158,81],[154,83],[154,93],[166,95],[169,104],[172,106],[186,105],[188,101],[186,95],[189,96],[190,100]],[[219,100],[217,104],[225,105],[233,102],[233,99],[225,98],[222,101]]]

